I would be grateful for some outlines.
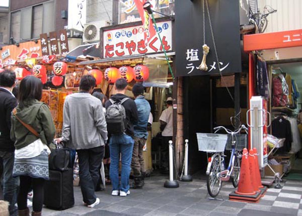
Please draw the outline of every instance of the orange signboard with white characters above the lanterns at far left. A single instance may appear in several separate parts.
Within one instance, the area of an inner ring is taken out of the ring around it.
[[[26,60],[42,56],[40,40],[38,43],[29,41],[16,45],[3,46],[0,51],[0,68],[6,65],[14,65],[18,60]]]

